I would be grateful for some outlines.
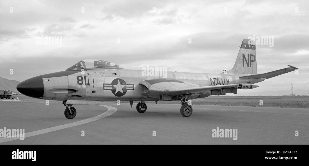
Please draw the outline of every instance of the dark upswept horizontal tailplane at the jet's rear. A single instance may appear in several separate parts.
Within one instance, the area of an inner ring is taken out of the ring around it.
[[[290,65],[288,65],[290,66]],[[246,75],[246,76],[241,76],[239,78],[250,78],[250,79],[262,79],[262,78],[265,78],[265,79],[269,79],[269,78],[272,78],[272,77],[275,77],[275,76],[278,76],[278,75],[281,75],[281,74],[284,74],[284,73],[288,73],[290,71],[294,71],[298,69],[297,67],[294,67],[294,66],[290,66],[290,67],[287,67],[287,68],[284,68],[284,69],[280,69],[280,70],[276,70],[276,71],[271,71],[271,72],[268,72],[268,73],[263,73],[263,74],[254,74],[254,75]]]

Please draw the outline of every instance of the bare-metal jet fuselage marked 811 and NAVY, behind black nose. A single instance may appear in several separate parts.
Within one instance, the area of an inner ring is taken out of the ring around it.
[[[145,75],[142,70],[103,69],[85,71],[62,71],[41,75],[45,100],[99,100],[99,101],[158,101],[158,98],[143,98],[139,83],[146,79],[179,80],[199,86],[227,85],[236,83],[257,83],[264,79],[241,79],[228,74],[207,74],[188,72],[167,72],[162,75]],[[120,79],[124,82],[113,80]],[[121,87],[122,85],[122,87]],[[115,95],[112,89],[120,86]],[[113,88],[114,87],[114,88]],[[206,95],[209,96],[209,95]],[[200,96],[201,97],[201,96]]]

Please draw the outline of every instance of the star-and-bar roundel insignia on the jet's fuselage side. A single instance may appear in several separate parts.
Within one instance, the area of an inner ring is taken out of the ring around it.
[[[112,83],[104,83],[104,90],[112,90],[115,96],[123,96],[127,91],[134,91],[134,84],[127,84],[123,79],[114,79]]]

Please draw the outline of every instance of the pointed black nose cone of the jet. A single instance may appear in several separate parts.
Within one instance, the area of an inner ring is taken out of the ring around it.
[[[29,96],[39,98],[43,97],[44,85],[42,76],[36,76],[31,79],[27,79],[17,85],[18,92]]]

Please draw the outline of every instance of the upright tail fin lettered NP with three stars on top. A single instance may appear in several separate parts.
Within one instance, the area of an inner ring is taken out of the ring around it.
[[[255,41],[249,39],[243,40],[235,65],[229,72],[242,75],[257,74]]]

